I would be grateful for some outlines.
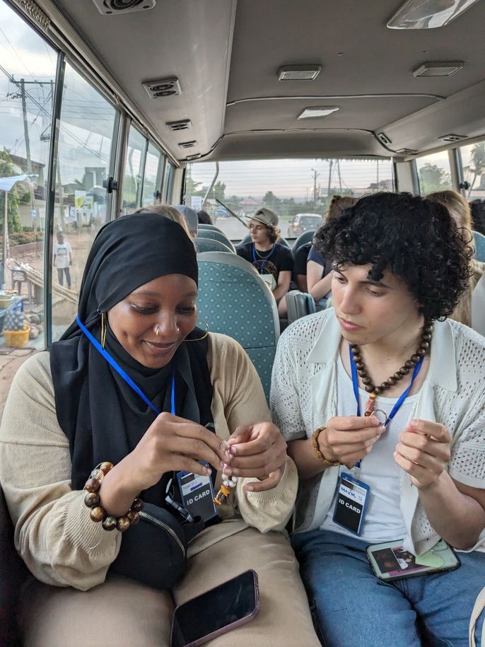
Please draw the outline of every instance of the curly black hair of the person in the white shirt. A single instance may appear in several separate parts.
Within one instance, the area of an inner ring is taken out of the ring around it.
[[[468,286],[473,250],[464,232],[438,202],[377,193],[320,227],[314,244],[336,267],[371,263],[372,281],[390,268],[424,317],[436,320],[452,313]]]

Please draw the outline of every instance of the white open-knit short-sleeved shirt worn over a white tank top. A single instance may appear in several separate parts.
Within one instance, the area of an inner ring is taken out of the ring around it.
[[[310,438],[337,415],[337,354],[341,332],[333,308],[303,317],[279,340],[271,381],[271,412],[286,441]],[[436,322],[431,361],[413,417],[444,424],[452,435],[450,476],[485,488],[485,338],[455,321]],[[339,468],[300,486],[296,532],[315,530],[329,511]],[[418,490],[401,474],[401,512],[415,554],[438,540],[419,502]],[[485,550],[485,532],[474,549]]]

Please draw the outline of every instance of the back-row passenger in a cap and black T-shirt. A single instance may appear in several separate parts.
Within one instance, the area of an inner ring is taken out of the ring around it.
[[[252,263],[267,281],[276,301],[290,288],[293,271],[291,250],[278,243],[278,216],[271,209],[258,209],[250,220],[251,243],[236,247],[238,256]]]

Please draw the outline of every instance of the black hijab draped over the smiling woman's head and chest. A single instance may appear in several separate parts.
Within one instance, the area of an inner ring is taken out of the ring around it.
[[[101,313],[132,291],[167,274],[197,283],[197,257],[182,227],[158,214],[123,216],[100,229],[90,249],[79,296],[78,317],[100,340]],[[204,333],[194,329],[187,339]],[[107,326],[105,349],[160,411],[170,411],[175,375],[175,411],[203,425],[212,422],[212,385],[207,339],[182,343],[168,366],[143,366],[124,350]],[[71,486],[82,489],[103,460],[116,464],[139,443],[156,414],[90,344],[74,322],[50,350],[57,420],[69,439]],[[166,478],[144,493],[163,505]]]

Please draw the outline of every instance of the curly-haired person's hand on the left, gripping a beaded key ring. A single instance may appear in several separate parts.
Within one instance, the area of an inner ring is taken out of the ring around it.
[[[318,436],[318,447],[329,461],[355,465],[368,455],[385,426],[375,416],[335,416]]]

